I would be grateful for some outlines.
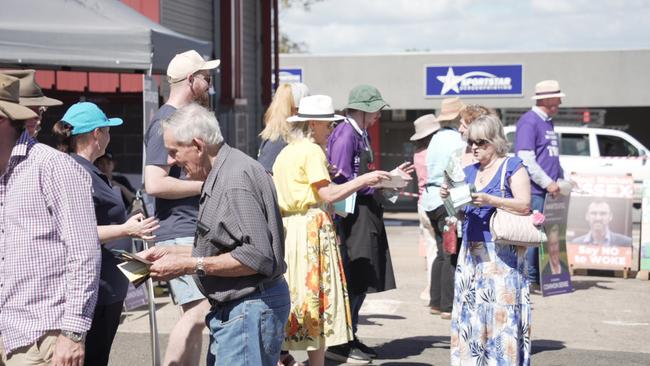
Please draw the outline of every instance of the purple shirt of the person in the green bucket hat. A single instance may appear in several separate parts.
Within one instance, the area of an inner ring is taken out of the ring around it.
[[[368,138],[370,143],[370,138]],[[367,146],[363,137],[352,124],[345,120],[339,123],[327,140],[327,160],[336,166],[340,174],[333,179],[334,183],[342,184],[359,176],[361,154]],[[365,171],[364,167],[364,171]],[[364,188],[357,192],[360,195],[372,195],[374,189]]]

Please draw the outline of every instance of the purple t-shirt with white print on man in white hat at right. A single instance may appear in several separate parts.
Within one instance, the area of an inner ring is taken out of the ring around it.
[[[530,110],[517,121],[515,135],[515,154],[521,150],[535,152],[535,160],[553,181],[563,177],[560,166],[560,145],[553,130],[553,121],[544,121],[537,113]],[[546,190],[531,181],[532,194],[544,194]]]

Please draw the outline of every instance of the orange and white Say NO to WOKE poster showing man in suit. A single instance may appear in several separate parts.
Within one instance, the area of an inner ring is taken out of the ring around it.
[[[630,268],[632,176],[573,174],[571,179],[578,189],[567,222],[569,262],[577,268]]]

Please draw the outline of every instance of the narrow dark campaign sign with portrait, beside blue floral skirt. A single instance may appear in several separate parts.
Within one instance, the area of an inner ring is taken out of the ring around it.
[[[539,249],[543,296],[573,292],[566,250],[569,200],[570,196],[552,198],[547,195],[544,201],[544,231],[548,240]]]

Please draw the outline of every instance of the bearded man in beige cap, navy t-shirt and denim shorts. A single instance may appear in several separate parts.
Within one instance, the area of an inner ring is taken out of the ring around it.
[[[207,106],[210,73],[218,66],[219,60],[205,61],[190,50],[174,56],[167,67],[169,99],[156,112],[144,138],[145,189],[156,198],[156,217],[160,220],[160,229],[155,232],[159,240],[156,246],[192,246],[202,185],[200,181],[187,180],[180,167],[168,164],[161,121],[193,102]],[[183,315],[170,333],[164,364],[198,365],[201,332],[210,304],[192,276],[175,278],[169,285]]]

